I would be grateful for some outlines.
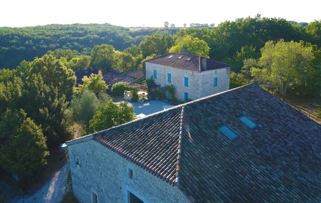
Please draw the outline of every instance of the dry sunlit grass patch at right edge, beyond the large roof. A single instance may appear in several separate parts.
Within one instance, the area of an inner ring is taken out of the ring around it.
[[[277,93],[276,96],[282,99],[281,94]],[[291,92],[286,93],[285,102],[294,108],[301,111],[303,114],[306,114],[308,117],[317,123],[321,124],[321,120],[317,119],[318,108],[321,108],[321,98],[303,98],[298,95],[292,94]],[[309,115],[309,110],[311,113]]]

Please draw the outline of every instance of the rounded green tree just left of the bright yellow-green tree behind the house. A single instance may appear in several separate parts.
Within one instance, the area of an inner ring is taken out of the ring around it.
[[[165,54],[167,49],[165,36],[161,34],[153,34],[148,36],[139,44],[139,48],[142,50],[143,58],[146,58],[152,54]]]

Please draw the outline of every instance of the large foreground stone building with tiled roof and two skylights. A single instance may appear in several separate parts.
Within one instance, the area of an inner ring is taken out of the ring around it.
[[[320,202],[320,135],[252,83],[66,144],[83,203]]]

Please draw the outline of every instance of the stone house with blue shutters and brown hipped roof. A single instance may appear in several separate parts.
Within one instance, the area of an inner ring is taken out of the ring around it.
[[[169,86],[175,88],[179,101],[198,99],[230,87],[231,65],[202,56],[168,53],[145,61],[146,78],[153,76],[169,97]]]

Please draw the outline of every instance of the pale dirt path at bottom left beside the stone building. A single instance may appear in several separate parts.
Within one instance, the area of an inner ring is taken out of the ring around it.
[[[65,194],[65,180],[69,171],[69,162],[59,169],[38,191],[28,194],[16,203],[59,203]]]

